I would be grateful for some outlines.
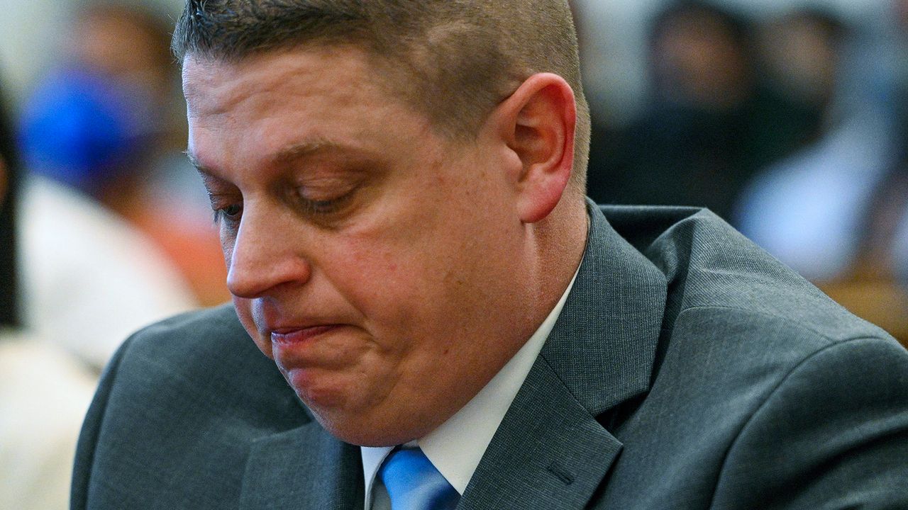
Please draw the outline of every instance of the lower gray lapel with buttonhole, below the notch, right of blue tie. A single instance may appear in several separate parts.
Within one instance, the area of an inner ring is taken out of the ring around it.
[[[583,508],[620,449],[539,358],[458,508]]]

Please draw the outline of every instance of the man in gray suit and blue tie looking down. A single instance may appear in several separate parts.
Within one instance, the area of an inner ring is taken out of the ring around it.
[[[584,201],[566,2],[192,0],[174,47],[235,313],[126,342],[74,508],[908,504],[903,348]]]

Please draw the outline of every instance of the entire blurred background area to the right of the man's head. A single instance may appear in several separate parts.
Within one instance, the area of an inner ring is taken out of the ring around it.
[[[908,345],[908,0],[575,0],[589,195],[706,206]]]

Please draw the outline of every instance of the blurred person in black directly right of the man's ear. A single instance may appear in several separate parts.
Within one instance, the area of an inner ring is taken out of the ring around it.
[[[818,119],[758,80],[751,26],[725,8],[675,2],[648,41],[651,103],[625,129],[594,127],[589,195],[727,219],[750,176],[806,142]]]

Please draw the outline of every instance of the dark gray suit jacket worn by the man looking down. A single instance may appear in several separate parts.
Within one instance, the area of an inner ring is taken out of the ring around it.
[[[902,347],[712,213],[603,211],[459,508],[908,508]],[[362,485],[220,308],[117,353],[72,507],[360,508]]]

